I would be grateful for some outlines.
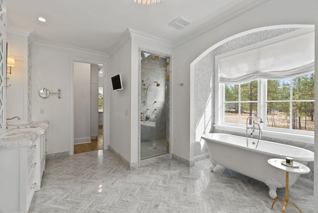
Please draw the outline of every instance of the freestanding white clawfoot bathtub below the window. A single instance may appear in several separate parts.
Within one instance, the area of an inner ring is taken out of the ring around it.
[[[267,163],[270,158],[292,157],[294,161],[307,165],[314,161],[314,152],[300,147],[246,137],[210,133],[201,136],[205,140],[212,166],[232,169],[248,177],[264,182],[269,187],[269,196],[277,197],[276,189],[285,187],[285,172]],[[248,143],[248,145],[247,145]],[[257,145],[257,148],[255,149]],[[247,147],[248,146],[248,147]],[[300,174],[289,174],[289,186],[292,186]]]

